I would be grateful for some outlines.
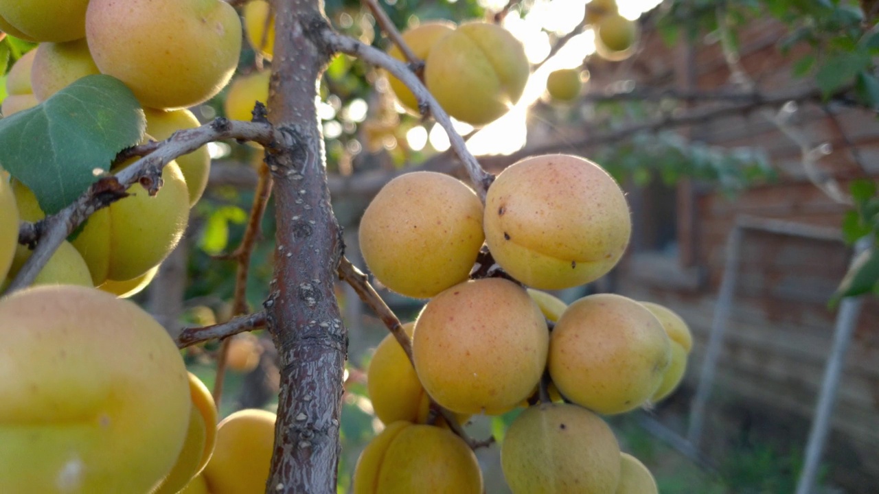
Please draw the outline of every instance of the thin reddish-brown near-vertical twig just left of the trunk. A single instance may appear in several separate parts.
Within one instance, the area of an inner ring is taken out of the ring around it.
[[[269,197],[272,196],[272,174],[269,167],[265,163],[259,167],[259,178],[257,182],[257,191],[253,196],[253,205],[251,206],[251,216],[247,222],[247,228],[244,229],[244,237],[241,244],[229,256],[236,259],[238,266],[235,273],[235,294],[232,299],[232,313],[235,315],[247,312],[247,274],[251,268],[251,253],[253,246],[257,242],[259,236],[260,225],[265,214],[265,206],[268,204]],[[231,338],[225,338],[220,345],[220,351],[217,352],[216,358],[216,376],[214,378],[214,403],[219,406],[222,398],[223,381],[226,375],[226,360],[229,357],[229,345]]]

